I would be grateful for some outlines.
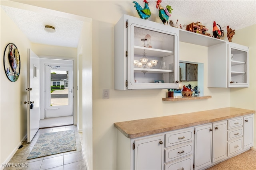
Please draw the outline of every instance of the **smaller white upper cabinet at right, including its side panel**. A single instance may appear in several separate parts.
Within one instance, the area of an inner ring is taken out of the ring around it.
[[[208,47],[208,87],[248,87],[249,49],[225,42]]]

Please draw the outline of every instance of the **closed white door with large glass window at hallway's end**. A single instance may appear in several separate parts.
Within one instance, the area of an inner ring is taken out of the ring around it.
[[[73,115],[72,64],[45,64],[46,118]]]

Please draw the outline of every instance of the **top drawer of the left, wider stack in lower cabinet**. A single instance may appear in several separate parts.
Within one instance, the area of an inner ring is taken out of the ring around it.
[[[186,129],[183,131],[173,131],[165,134],[165,147],[194,140],[194,130]]]

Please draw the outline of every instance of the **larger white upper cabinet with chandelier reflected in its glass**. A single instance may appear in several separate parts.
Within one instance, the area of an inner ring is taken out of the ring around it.
[[[114,89],[179,88],[179,29],[124,15],[114,27]]]

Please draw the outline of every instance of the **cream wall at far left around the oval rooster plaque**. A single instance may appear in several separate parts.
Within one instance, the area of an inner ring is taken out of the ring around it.
[[[0,12],[0,163],[2,165],[2,163],[8,163],[27,134],[27,105],[23,102],[27,100],[27,51],[31,45],[2,8]],[[20,76],[16,82],[11,82],[2,68],[4,60],[2,54],[8,43],[14,43],[20,53]]]

